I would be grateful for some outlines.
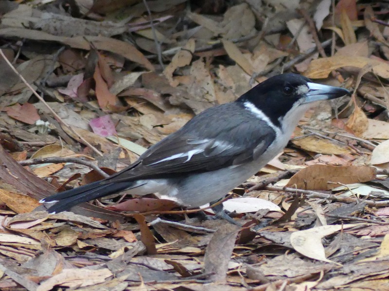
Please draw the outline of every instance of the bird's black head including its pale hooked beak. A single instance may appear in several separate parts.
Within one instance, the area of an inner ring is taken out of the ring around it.
[[[309,106],[308,104],[319,100],[334,99],[350,95],[344,88],[313,83],[308,78],[298,74],[282,74],[271,77],[258,84],[247,93],[239,97],[236,102],[259,110],[278,127],[287,114],[294,114],[300,118]],[[259,111],[257,111],[259,113]]]

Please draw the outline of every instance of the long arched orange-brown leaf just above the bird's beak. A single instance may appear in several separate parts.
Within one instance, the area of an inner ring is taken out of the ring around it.
[[[313,60],[304,72],[304,76],[312,79],[322,79],[327,78],[331,71],[340,67],[354,66],[363,68],[366,65],[371,65],[373,72],[378,76],[389,78],[389,64],[374,59],[351,56],[335,56]]]

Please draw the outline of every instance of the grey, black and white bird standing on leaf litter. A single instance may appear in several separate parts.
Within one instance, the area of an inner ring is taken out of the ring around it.
[[[39,202],[55,202],[48,212],[58,213],[125,191],[131,195],[153,193],[193,208],[212,204],[283,150],[313,102],[345,95],[350,96],[350,91],[299,74],[270,77],[234,102],[195,115],[122,171]],[[235,223],[222,204],[213,210]]]

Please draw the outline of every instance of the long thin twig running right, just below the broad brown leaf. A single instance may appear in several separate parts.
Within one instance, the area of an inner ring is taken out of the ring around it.
[[[337,196],[334,194],[325,194],[310,190],[301,190],[301,189],[295,189],[290,187],[278,187],[278,186],[266,186],[266,190],[269,191],[281,191],[281,192],[291,192],[293,195],[296,194],[306,194],[308,198],[319,198],[319,199],[328,199],[332,201],[337,202],[343,202],[343,203],[358,203],[359,201],[352,197],[346,197],[346,196]],[[370,207],[383,207],[383,206],[389,206],[389,200],[384,201],[367,201],[364,200],[364,202],[370,206]]]

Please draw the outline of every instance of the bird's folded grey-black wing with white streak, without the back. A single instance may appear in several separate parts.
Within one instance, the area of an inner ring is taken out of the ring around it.
[[[275,132],[263,121],[243,120],[226,131],[215,130],[214,134],[207,134],[207,139],[201,136],[193,130],[178,130],[149,148],[135,165],[112,179],[169,177],[250,162],[266,150],[274,140]],[[112,181],[111,178],[108,180]]]

